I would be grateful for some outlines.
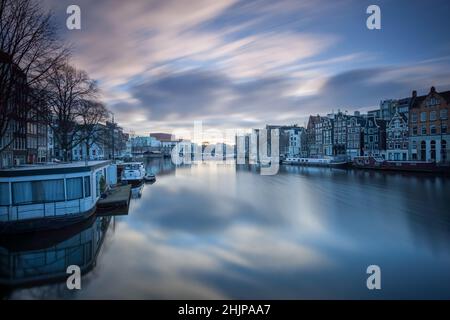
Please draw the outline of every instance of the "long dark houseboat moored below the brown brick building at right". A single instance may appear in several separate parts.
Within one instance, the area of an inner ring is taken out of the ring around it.
[[[389,161],[376,156],[356,157],[352,166],[358,169],[450,173],[448,164],[434,161]]]

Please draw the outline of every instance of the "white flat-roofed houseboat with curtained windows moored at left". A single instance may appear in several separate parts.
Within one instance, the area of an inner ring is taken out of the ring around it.
[[[56,229],[94,214],[117,183],[110,161],[27,165],[0,170],[0,234]]]

